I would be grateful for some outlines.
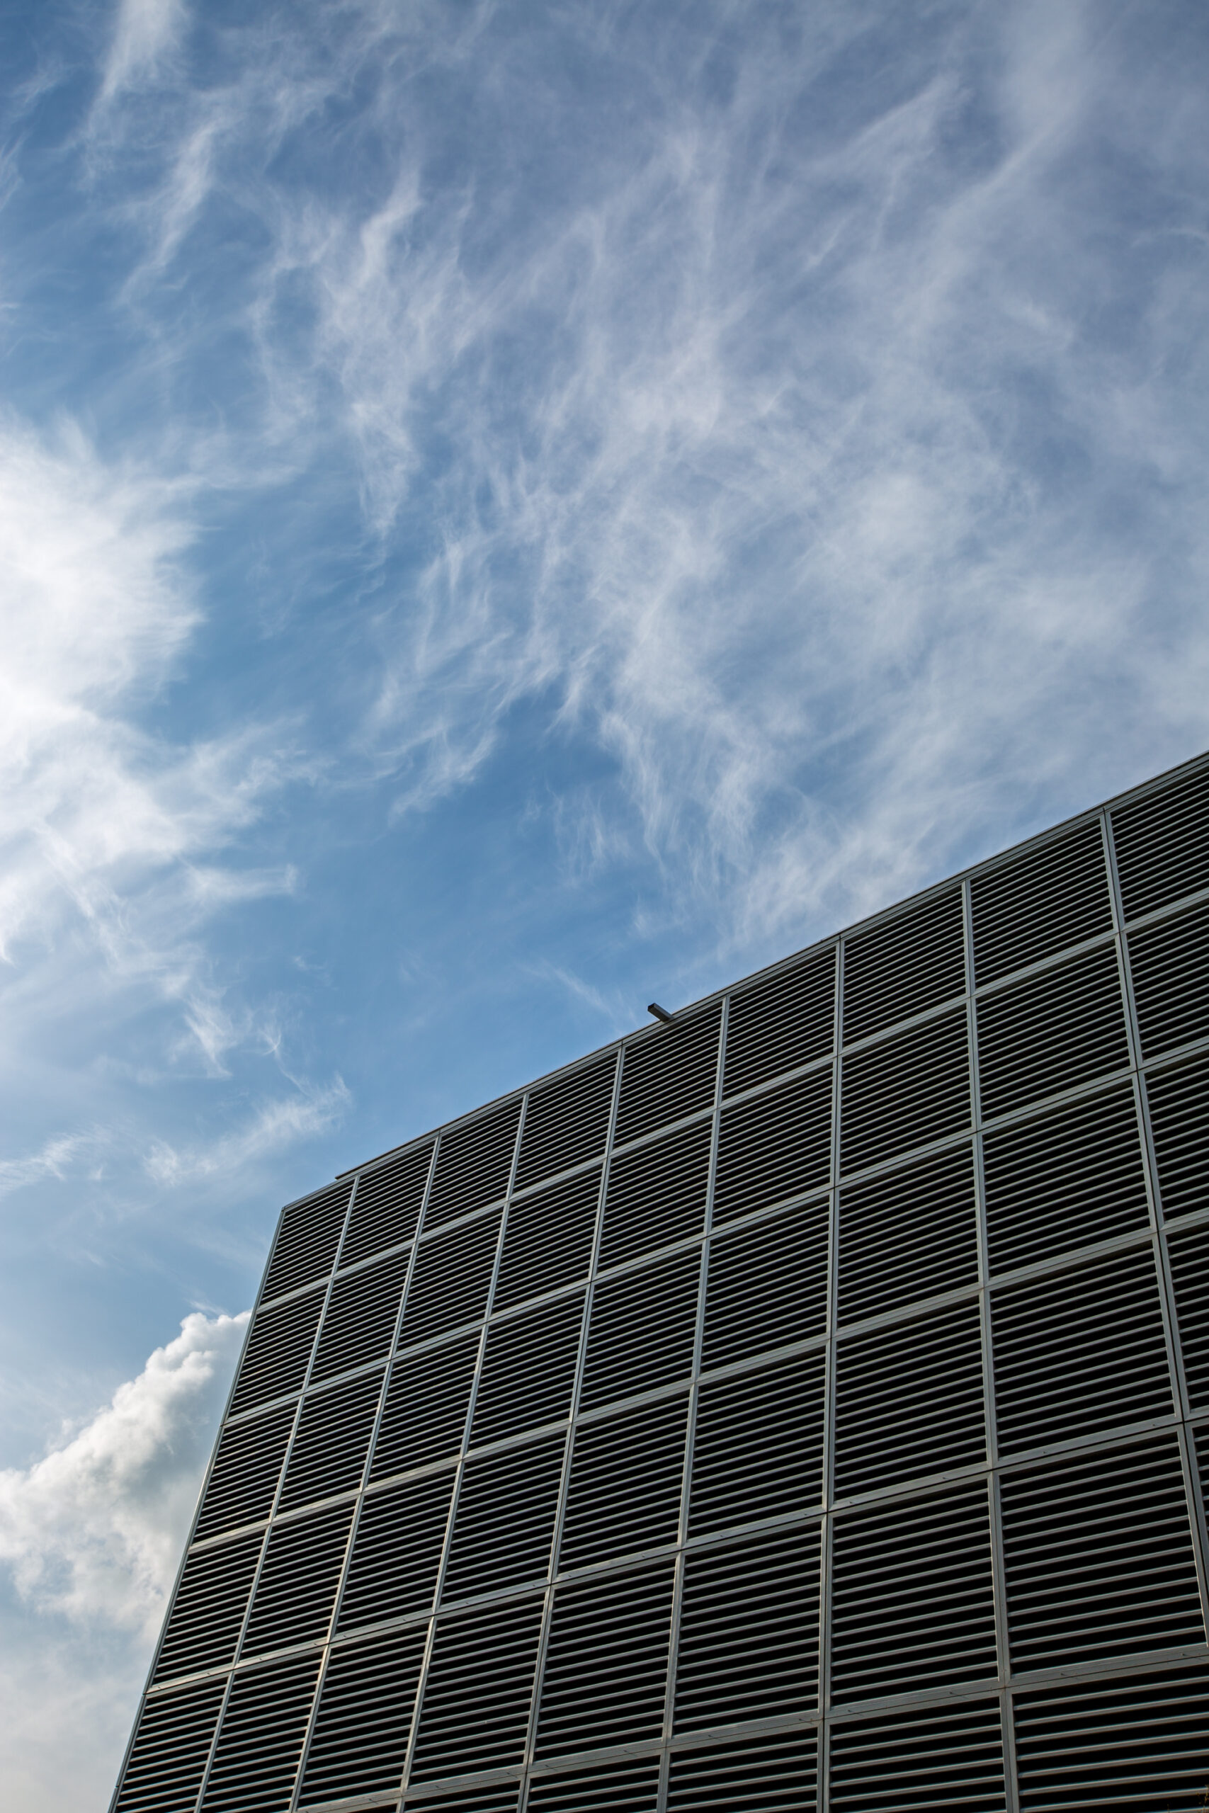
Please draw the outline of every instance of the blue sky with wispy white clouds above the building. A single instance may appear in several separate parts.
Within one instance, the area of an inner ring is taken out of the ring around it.
[[[1198,0],[0,9],[0,1798],[276,1211],[1209,745]]]

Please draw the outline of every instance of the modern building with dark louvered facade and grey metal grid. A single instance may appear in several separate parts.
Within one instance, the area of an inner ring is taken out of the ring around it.
[[[1207,1804],[1209,758],[290,1204],[116,1813]]]

